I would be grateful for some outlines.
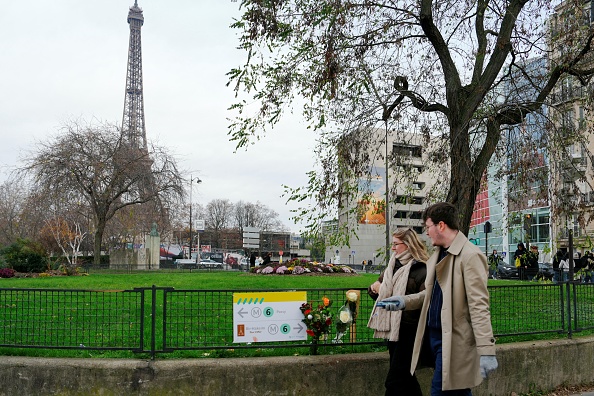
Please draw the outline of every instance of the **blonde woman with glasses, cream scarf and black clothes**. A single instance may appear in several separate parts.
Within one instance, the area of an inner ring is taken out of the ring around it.
[[[429,256],[425,245],[410,228],[399,228],[392,234],[392,257],[378,281],[369,286],[375,300],[394,295],[413,294],[425,289]],[[368,327],[374,336],[388,340],[390,369],[386,378],[386,395],[422,396],[415,375],[410,374],[410,361],[415,343],[420,310],[386,311],[374,307]]]

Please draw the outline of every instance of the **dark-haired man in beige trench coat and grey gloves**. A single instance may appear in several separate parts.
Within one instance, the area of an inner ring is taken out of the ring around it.
[[[497,368],[491,327],[487,258],[458,230],[458,212],[447,203],[423,212],[427,236],[437,249],[427,262],[426,289],[393,296],[388,310],[421,308],[411,373],[427,336],[435,358],[431,396],[472,395],[470,388]]]

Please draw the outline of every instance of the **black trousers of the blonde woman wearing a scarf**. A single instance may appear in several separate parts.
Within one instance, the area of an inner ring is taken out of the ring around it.
[[[415,344],[416,325],[400,325],[397,342],[388,341],[390,370],[386,378],[386,396],[423,396],[417,377],[410,374],[410,361]]]

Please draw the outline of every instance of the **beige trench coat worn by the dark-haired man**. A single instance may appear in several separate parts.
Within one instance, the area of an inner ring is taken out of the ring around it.
[[[439,249],[427,261],[425,290],[405,296],[405,310],[421,310],[411,361],[414,373],[419,360],[427,311],[435,276],[443,291],[442,389],[472,388],[482,382],[481,355],[495,355],[487,290],[487,257],[462,232],[452,242],[448,255],[437,265]]]

